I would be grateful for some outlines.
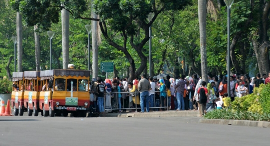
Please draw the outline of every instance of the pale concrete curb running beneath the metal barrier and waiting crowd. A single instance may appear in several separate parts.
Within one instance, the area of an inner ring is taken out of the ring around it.
[[[118,117],[118,118],[128,118],[128,117],[199,117],[199,112],[190,111],[172,111],[172,112],[149,112],[149,113],[112,113],[112,114],[100,114],[100,117]]]

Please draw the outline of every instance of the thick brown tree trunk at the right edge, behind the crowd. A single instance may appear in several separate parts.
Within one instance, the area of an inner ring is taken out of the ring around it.
[[[265,41],[260,46],[256,40],[252,41],[254,52],[256,54],[258,68],[260,74],[267,74],[270,71],[270,62],[269,62],[269,48],[270,42]]]

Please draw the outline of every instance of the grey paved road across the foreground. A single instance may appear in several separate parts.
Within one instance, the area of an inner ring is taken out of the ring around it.
[[[198,120],[0,117],[0,146],[269,146],[268,128],[198,124]]]

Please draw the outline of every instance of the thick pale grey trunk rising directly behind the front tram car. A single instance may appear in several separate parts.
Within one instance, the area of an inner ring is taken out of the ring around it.
[[[65,9],[61,10],[61,20],[63,69],[67,69],[69,58],[69,12]]]

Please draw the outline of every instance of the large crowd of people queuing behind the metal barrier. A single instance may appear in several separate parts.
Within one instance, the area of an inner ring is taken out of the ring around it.
[[[195,73],[190,76],[176,76],[175,79],[169,75],[164,79],[157,79],[156,76],[147,77],[146,74],[142,74],[140,78],[133,81],[116,77],[102,82],[98,77],[92,90],[93,98],[90,105],[91,107],[97,105],[96,111],[93,112],[99,113],[120,113],[126,112],[126,109],[131,109],[128,110],[129,112],[137,109],[141,113],[198,110],[200,116],[203,116],[212,109],[229,106],[226,98],[229,97],[233,101],[235,97],[251,94],[253,88],[267,83],[270,83],[270,72],[268,77],[262,74],[262,78],[259,73],[252,78],[235,74],[230,76],[229,81],[227,75],[208,74],[206,82]],[[230,84],[230,93],[227,93],[228,84]]]

